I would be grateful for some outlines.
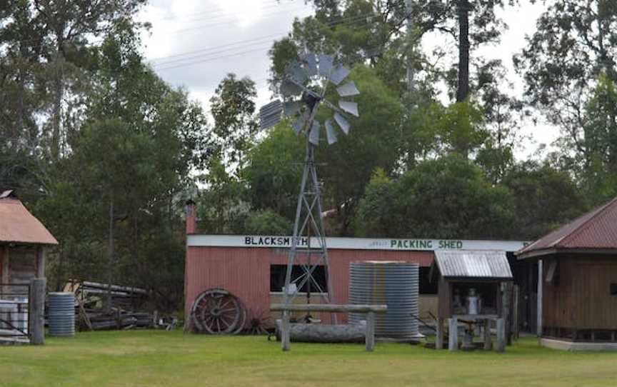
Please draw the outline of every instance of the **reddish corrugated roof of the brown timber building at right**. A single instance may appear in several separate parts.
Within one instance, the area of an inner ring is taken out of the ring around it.
[[[548,233],[516,255],[553,249],[617,249],[617,198]]]

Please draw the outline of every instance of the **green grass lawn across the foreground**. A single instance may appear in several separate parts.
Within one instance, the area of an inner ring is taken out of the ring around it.
[[[617,353],[566,353],[523,339],[506,353],[378,343],[279,343],[179,331],[79,333],[0,347],[0,386],[617,386]]]

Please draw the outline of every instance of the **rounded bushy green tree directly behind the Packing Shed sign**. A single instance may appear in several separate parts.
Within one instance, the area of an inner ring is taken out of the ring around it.
[[[508,238],[511,195],[456,154],[425,161],[396,181],[378,172],[366,187],[358,228],[367,236]]]

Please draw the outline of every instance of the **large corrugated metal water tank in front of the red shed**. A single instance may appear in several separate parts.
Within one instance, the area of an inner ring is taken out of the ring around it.
[[[349,301],[352,304],[386,304],[388,311],[375,316],[375,336],[414,340],[418,332],[418,263],[400,261],[352,262]],[[364,313],[349,313],[349,322],[365,320]]]

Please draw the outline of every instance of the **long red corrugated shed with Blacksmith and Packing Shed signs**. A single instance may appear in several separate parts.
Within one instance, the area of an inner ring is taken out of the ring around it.
[[[192,205],[187,207],[186,261],[184,273],[185,313],[202,292],[224,288],[238,296],[250,313],[269,311],[271,303],[282,301],[284,270],[291,236],[201,235],[196,233],[196,218]],[[306,242],[304,242],[306,243]],[[400,238],[326,238],[333,298],[336,303],[348,303],[349,263],[354,261],[406,261],[419,263],[420,314],[426,318],[437,312],[437,288],[431,285],[428,273],[435,250],[500,250],[517,251],[523,241],[464,241],[442,239]],[[311,242],[312,246],[316,243]],[[325,278],[324,278],[325,279]],[[325,281],[323,283],[325,286]],[[433,287],[428,290],[423,288]],[[306,302],[300,289],[296,301]],[[313,293],[311,303],[321,297]],[[346,316],[343,317],[343,322]],[[189,319],[187,318],[187,321]]]

